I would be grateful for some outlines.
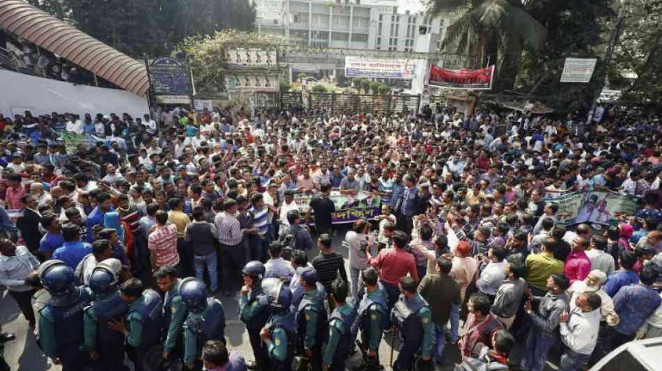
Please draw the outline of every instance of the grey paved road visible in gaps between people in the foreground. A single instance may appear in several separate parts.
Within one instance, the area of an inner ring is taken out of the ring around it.
[[[337,246],[337,251],[344,256],[346,266],[348,267],[348,252],[341,247],[341,241],[345,231],[340,230],[338,235],[334,236],[334,246]],[[247,360],[252,359],[252,349],[250,347],[248,333],[245,331],[243,323],[237,317],[237,301],[226,297],[221,297],[220,299],[228,316],[225,333],[229,342],[229,348],[240,352]],[[2,292],[0,297],[0,323],[3,324],[3,332],[16,334],[16,340],[7,343],[5,347],[5,358],[13,371],[61,371],[61,367],[53,365],[37,347],[35,338],[32,335],[32,329],[28,329],[26,320],[20,314],[13,299],[6,294],[6,290]],[[396,345],[399,345],[397,337],[395,342]],[[385,334],[379,349],[380,362],[382,365],[385,365],[387,370],[390,370],[388,365],[390,364],[391,343],[391,335]],[[511,359],[518,360],[521,357],[522,351],[521,345],[518,345],[514,349],[513,354],[511,354]],[[398,352],[396,350],[393,355],[394,359],[397,356]],[[459,362],[459,360],[457,347],[447,346],[445,348],[445,364],[438,368],[438,370],[452,371],[454,363]],[[129,361],[127,362],[127,364],[130,364]],[[349,358],[347,368],[352,368],[360,364],[360,362],[361,356],[360,353],[357,353]],[[548,367],[548,370],[556,370],[556,368],[552,365],[552,367]]]

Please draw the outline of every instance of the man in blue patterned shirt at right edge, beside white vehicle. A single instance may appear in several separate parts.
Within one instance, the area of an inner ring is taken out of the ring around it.
[[[609,329],[611,344],[607,351],[634,340],[637,329],[660,306],[662,299],[652,287],[658,276],[653,267],[644,267],[638,284],[618,290],[614,297],[614,311],[620,322]]]

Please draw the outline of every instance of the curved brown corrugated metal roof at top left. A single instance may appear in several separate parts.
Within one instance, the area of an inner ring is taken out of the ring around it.
[[[144,63],[22,0],[0,0],[0,27],[120,88],[140,97],[146,95],[149,79]]]

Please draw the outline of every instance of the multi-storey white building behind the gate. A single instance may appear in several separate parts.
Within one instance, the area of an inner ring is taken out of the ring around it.
[[[311,47],[414,52],[426,33],[445,33],[443,17],[398,13],[398,0],[256,0],[259,33]],[[279,11],[277,11],[279,9]]]

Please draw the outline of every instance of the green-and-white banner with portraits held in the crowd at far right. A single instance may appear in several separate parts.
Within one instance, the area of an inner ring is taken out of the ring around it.
[[[573,192],[559,197],[545,198],[556,203],[559,223],[616,224],[637,211],[637,198],[607,191]]]

